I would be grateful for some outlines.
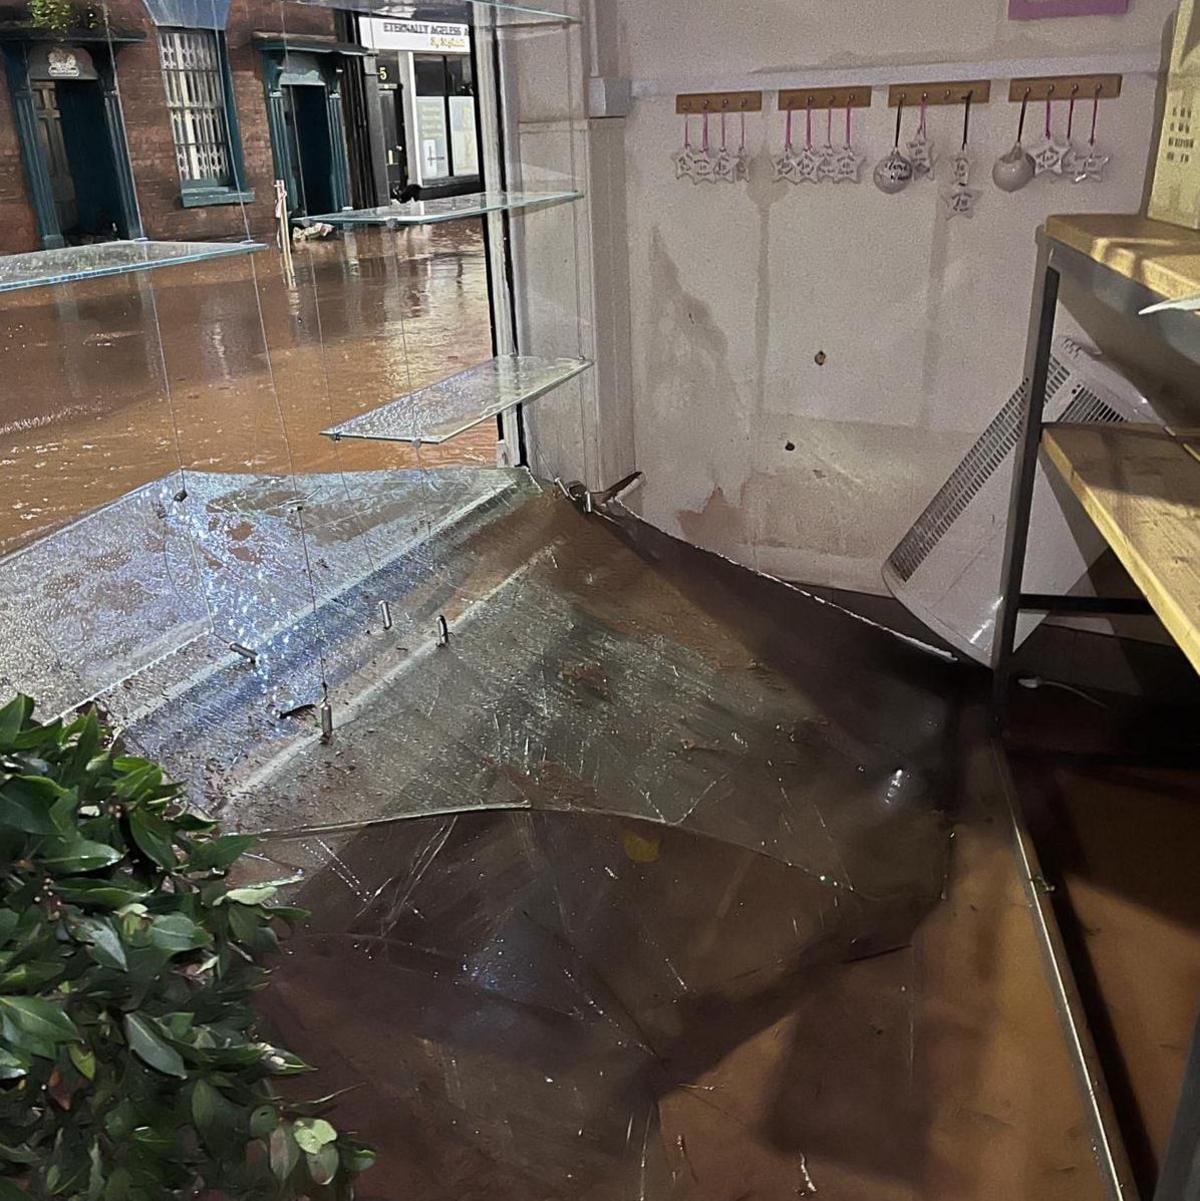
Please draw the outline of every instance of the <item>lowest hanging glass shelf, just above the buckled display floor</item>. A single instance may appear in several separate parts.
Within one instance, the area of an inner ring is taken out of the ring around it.
[[[321,432],[334,441],[447,442],[513,405],[544,396],[590,366],[587,359],[505,354]]]

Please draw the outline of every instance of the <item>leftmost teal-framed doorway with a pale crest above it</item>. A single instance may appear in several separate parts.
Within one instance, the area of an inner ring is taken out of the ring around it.
[[[62,42],[6,31],[5,71],[30,207],[42,246],[142,237],[115,80],[121,44],[141,35]]]

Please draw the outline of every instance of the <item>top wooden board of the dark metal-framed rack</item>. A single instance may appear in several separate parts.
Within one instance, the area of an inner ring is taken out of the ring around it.
[[[1140,283],[1164,300],[1200,294],[1200,233],[1109,214],[1046,217],[1046,237]]]

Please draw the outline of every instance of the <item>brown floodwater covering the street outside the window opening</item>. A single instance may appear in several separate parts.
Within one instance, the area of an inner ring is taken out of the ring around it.
[[[495,464],[320,431],[491,355],[480,227],[371,229],[0,295],[0,552],[178,468]]]

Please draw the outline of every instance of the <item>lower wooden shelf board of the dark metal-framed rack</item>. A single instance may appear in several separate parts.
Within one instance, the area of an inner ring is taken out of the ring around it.
[[[1200,461],[1158,430],[1047,425],[1046,455],[1200,671]]]

